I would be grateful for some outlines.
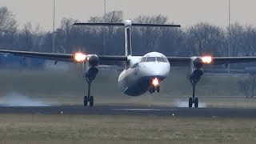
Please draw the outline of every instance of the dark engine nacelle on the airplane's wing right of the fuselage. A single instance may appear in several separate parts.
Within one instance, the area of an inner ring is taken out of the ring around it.
[[[199,80],[203,74],[202,66],[203,66],[203,62],[201,57],[192,57],[191,64],[190,64],[189,78]]]

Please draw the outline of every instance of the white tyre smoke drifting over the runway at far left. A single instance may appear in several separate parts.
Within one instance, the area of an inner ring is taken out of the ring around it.
[[[0,98],[0,106],[52,106],[53,103],[41,102],[28,96],[12,92]]]

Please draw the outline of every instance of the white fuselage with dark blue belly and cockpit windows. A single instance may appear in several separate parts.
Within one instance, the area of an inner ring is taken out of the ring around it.
[[[118,87],[123,94],[138,96],[150,89],[153,78],[160,82],[170,73],[170,62],[164,54],[150,52],[142,57],[129,56],[128,66],[118,77]]]

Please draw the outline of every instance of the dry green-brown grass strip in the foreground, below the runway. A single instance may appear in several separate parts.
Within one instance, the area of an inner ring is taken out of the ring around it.
[[[0,114],[0,143],[255,143],[255,119]]]

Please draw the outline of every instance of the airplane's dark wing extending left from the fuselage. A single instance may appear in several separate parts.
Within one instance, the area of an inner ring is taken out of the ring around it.
[[[3,54],[14,54],[15,56],[28,57],[28,58],[42,58],[47,60],[54,60],[60,62],[78,62],[75,59],[76,54],[57,54],[57,53],[42,53],[32,51],[16,51],[16,50],[0,50]],[[88,54],[90,58],[91,54]],[[100,64],[116,64],[115,62],[126,62],[126,56],[115,56],[115,55],[98,55]]]

